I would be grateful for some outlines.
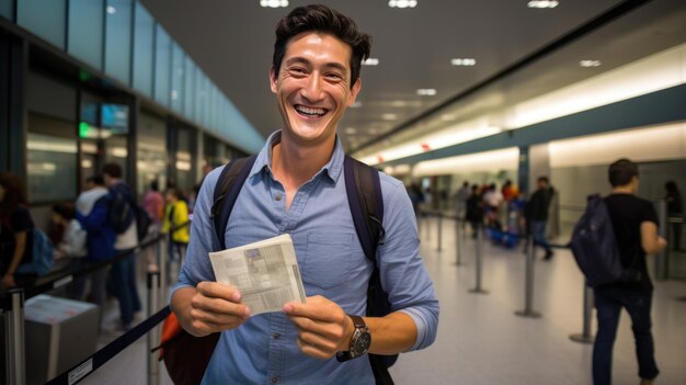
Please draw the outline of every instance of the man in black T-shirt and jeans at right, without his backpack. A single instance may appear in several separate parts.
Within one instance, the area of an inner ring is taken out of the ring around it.
[[[628,159],[609,166],[613,193],[605,197],[615,230],[621,264],[636,271],[633,282],[617,282],[595,287],[598,332],[593,347],[593,383],[611,383],[613,346],[619,313],[626,308],[631,316],[641,385],[650,385],[660,371],[655,364],[650,308],[653,285],[648,275],[645,254],[658,253],[666,241],[658,236],[658,214],[652,204],[636,196],[639,188],[638,167]]]

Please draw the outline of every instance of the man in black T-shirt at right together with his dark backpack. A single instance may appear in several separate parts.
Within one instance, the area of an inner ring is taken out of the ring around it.
[[[645,256],[662,251],[666,241],[658,235],[653,205],[636,196],[638,166],[619,159],[609,166],[608,177],[613,192],[590,200],[571,240],[574,258],[595,294],[598,331],[593,347],[593,383],[611,384],[613,347],[625,308],[631,317],[641,385],[650,385],[660,371],[650,319],[653,284]]]

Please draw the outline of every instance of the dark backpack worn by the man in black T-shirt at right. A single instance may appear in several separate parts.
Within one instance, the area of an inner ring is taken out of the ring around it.
[[[597,194],[588,196],[586,211],[574,226],[570,248],[591,287],[641,279],[640,272],[621,264],[607,205]]]

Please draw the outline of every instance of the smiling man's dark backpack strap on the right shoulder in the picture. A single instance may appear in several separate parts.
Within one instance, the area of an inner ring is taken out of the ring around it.
[[[384,196],[379,172],[348,156],[343,161],[347,203],[365,256],[376,265],[376,249],[384,245]]]

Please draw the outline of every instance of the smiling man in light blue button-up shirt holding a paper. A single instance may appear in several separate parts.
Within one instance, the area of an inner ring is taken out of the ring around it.
[[[289,233],[307,303],[251,317],[236,287],[214,282],[207,252],[218,240],[209,211],[220,169],[210,172],[171,299],[192,335],[222,331],[204,384],[374,384],[366,355],[334,358],[359,336],[347,315],[364,316],[373,269],[350,213],[335,134],[362,88],[359,67],[368,55],[369,36],[324,5],[296,8],[278,22],[270,82],[284,128],[259,154],[224,236],[230,248]],[[401,182],[380,177],[386,237],[377,262],[395,312],[363,320],[371,336],[368,352],[395,354],[434,341],[438,303],[419,256],[408,194]]]

